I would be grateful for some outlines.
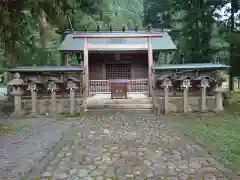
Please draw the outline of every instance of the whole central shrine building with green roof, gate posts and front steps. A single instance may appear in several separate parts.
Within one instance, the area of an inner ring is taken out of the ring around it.
[[[167,32],[149,29],[72,32],[66,35],[59,50],[80,54],[79,61],[84,67],[85,110],[100,107],[151,109],[153,53],[176,50],[176,46]]]

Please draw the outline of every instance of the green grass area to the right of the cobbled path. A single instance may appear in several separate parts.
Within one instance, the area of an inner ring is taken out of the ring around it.
[[[227,168],[240,174],[240,115],[208,114],[174,119],[171,123],[185,135]]]

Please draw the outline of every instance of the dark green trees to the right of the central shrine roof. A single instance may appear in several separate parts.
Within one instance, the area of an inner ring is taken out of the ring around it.
[[[229,1],[148,0],[145,2],[145,24],[152,24],[157,28],[178,29],[172,33],[172,37],[178,45],[179,52],[184,54],[187,61],[195,63],[215,61],[219,51],[228,47],[229,43],[217,32],[219,26],[216,26],[214,16],[215,10],[222,8]],[[180,56],[178,61],[182,62]]]

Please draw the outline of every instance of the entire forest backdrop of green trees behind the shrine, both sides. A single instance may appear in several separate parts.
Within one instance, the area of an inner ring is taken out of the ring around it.
[[[178,50],[168,62],[229,63],[240,46],[235,29],[217,10],[230,0],[0,0],[0,66],[59,65],[64,28],[83,30],[172,29]],[[234,12],[240,2],[232,0]],[[227,8],[228,13],[230,9]],[[59,33],[60,32],[60,33]]]

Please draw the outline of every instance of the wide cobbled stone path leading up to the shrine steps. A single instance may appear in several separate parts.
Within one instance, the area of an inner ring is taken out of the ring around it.
[[[42,179],[228,179],[154,115],[88,116]]]

